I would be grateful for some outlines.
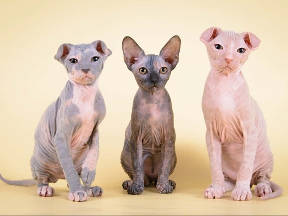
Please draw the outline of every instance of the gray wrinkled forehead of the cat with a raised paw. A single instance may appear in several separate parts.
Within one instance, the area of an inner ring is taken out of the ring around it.
[[[84,58],[91,58],[92,56],[99,57],[100,54],[97,52],[97,50],[91,45],[91,44],[80,44],[80,45],[74,45],[69,53],[69,57],[72,56],[77,57],[78,60],[84,59]]]

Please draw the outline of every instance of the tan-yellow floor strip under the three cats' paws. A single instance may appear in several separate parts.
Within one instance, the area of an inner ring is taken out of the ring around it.
[[[115,181],[117,182],[117,181]],[[230,192],[221,199],[205,199],[204,188],[177,185],[172,194],[159,194],[155,185],[141,195],[129,195],[120,185],[103,187],[102,197],[88,197],[86,202],[67,199],[65,180],[51,184],[53,197],[39,197],[36,187],[0,183],[1,215],[287,215],[288,196],[262,201],[252,192],[250,201],[231,200]]]

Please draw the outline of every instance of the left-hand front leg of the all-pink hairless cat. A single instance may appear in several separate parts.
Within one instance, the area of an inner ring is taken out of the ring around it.
[[[206,130],[206,146],[210,161],[212,184],[205,190],[204,196],[209,199],[221,198],[226,192],[224,175],[221,167],[222,144],[213,133],[210,124]]]

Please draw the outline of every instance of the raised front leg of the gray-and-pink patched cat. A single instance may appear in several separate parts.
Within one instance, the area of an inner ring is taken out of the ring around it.
[[[92,135],[88,154],[82,164],[81,179],[86,187],[89,187],[95,179],[96,165],[99,157],[99,130],[96,129]]]

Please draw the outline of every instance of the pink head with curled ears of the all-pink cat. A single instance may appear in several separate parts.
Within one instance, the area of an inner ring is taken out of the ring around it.
[[[238,34],[217,27],[204,31],[200,40],[206,45],[211,68],[225,74],[240,71],[250,52],[260,43],[251,32]]]

